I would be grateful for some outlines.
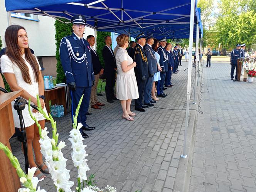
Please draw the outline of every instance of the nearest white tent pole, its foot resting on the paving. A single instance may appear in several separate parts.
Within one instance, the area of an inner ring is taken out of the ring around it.
[[[187,127],[189,123],[189,99],[191,91],[191,68],[192,68],[192,47],[193,47],[193,30],[194,30],[194,15],[195,15],[195,0],[191,0],[190,7],[190,28],[189,28],[189,68],[187,78],[187,107],[186,107],[186,118],[185,118],[185,132],[184,132],[184,143],[183,143],[183,154],[180,155],[182,158],[187,158],[186,145],[187,145]]]

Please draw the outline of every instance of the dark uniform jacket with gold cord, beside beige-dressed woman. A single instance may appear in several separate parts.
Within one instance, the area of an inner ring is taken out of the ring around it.
[[[142,58],[143,56],[143,58]],[[141,80],[141,77],[148,77],[148,61],[147,56],[143,48],[137,44],[133,51],[133,60],[136,62],[136,67],[134,67],[136,79]]]

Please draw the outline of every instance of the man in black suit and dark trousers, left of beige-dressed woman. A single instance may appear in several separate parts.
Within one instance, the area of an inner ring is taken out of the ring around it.
[[[116,80],[116,58],[113,50],[111,49],[112,39],[110,36],[105,37],[105,46],[102,50],[102,55],[104,59],[104,72],[106,76],[106,98],[108,103],[114,103],[114,100],[117,100],[114,95],[114,87]]]

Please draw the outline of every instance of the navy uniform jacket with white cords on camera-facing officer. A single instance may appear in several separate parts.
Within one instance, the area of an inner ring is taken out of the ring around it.
[[[83,38],[83,42],[74,33],[64,37],[59,54],[67,83],[76,82],[77,87],[90,87],[94,80],[91,49],[87,40]]]

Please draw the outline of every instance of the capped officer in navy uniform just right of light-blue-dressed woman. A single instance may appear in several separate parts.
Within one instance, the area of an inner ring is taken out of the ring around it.
[[[165,76],[166,76],[166,72],[168,71],[168,55],[164,48],[166,45],[166,39],[165,38],[160,39],[159,44],[160,45],[158,47],[157,52],[160,55],[159,64],[160,64],[160,67],[162,68],[162,71],[160,72],[161,80],[157,82],[157,96],[165,98],[167,94],[163,93],[163,90],[164,90],[163,84],[165,83]]]

